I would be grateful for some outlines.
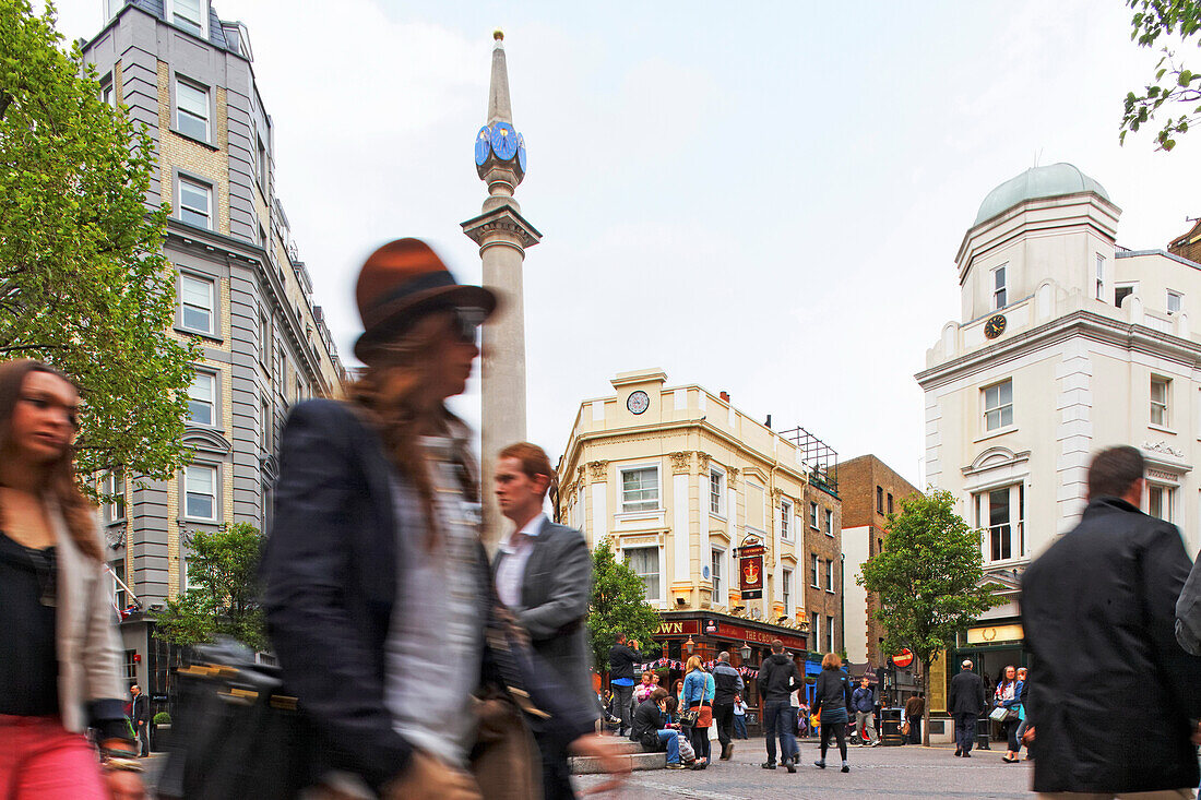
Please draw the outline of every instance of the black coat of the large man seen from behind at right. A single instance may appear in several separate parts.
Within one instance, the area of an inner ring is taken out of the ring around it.
[[[1189,568],[1173,525],[1099,497],[1026,571],[1035,792],[1197,786],[1201,658],[1175,631]]]

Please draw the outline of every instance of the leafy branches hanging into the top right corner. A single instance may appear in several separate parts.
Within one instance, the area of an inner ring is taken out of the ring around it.
[[[1154,47],[1160,36],[1179,36],[1181,44],[1201,30],[1201,4],[1196,0],[1125,0],[1134,8],[1130,38],[1140,47]],[[1201,43],[1201,40],[1199,40]],[[1193,106],[1179,117],[1169,118],[1159,133],[1157,150],[1171,150],[1176,137],[1187,133],[1189,125],[1201,119],[1201,72],[1193,72],[1177,58],[1171,47],[1163,47],[1163,58],[1155,65],[1155,77],[1141,92],[1125,96],[1118,139],[1125,142],[1129,131],[1137,131],[1151,121],[1160,106],[1171,102]]]

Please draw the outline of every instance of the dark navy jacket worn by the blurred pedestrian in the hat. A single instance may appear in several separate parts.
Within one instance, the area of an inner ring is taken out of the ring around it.
[[[348,404],[297,405],[280,442],[262,565],[263,608],[285,683],[321,739],[313,769],[351,771],[374,787],[412,756],[383,698],[396,539],[406,535],[393,508],[393,474],[378,435]],[[483,545],[477,569],[495,621],[500,602]],[[551,715],[544,724],[564,742],[592,730],[591,706],[563,692],[528,649],[497,653],[486,641],[480,683],[512,686],[520,674],[534,706]]]

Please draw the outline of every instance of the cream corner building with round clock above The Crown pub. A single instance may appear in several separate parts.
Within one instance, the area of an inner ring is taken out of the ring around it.
[[[562,520],[590,547],[608,538],[665,621],[699,611],[746,621],[752,644],[775,631],[793,649],[809,633],[802,647],[841,650],[841,503],[817,440],[791,441],[699,386],[669,387],[659,370],[613,387],[580,405],[560,462]],[[752,599],[735,550],[755,544],[764,585]]]

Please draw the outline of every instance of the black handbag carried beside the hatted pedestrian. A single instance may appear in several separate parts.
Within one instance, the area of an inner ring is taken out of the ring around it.
[[[178,700],[159,796],[291,800],[311,782],[315,736],[277,667],[233,639],[196,647]]]

